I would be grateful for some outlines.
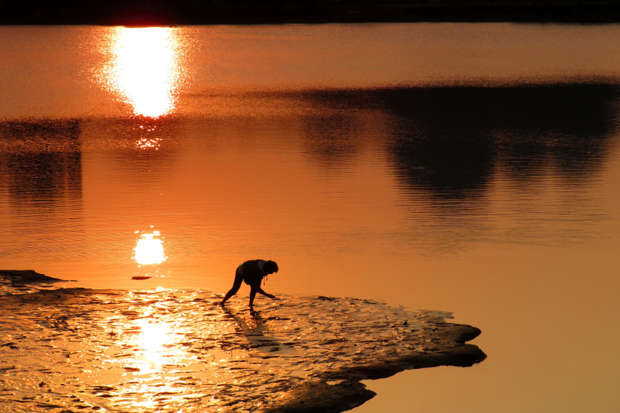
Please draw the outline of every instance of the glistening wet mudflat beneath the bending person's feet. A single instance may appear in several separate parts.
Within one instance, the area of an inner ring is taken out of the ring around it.
[[[12,412],[343,412],[360,383],[471,366],[480,330],[355,298],[56,288],[0,271],[0,408]],[[41,277],[39,277],[41,278]],[[223,410],[222,410],[223,408]]]

